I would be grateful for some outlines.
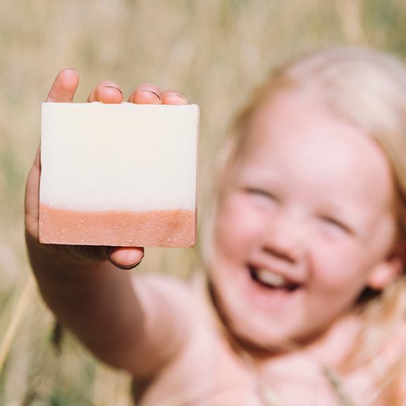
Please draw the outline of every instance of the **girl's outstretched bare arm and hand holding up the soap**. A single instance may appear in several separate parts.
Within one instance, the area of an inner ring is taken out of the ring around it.
[[[47,101],[72,101],[77,87],[78,73],[62,70]],[[116,83],[105,81],[92,90],[88,101],[121,103],[123,93]],[[138,87],[128,101],[187,102],[178,92],[161,92],[149,84]],[[38,152],[27,178],[25,228],[30,262],[44,300],[61,323],[104,362],[127,369],[135,376],[152,374],[173,356],[185,338],[182,333],[185,318],[174,314],[185,309],[182,305],[187,300],[185,290],[171,281],[156,284],[144,278],[133,288],[125,269],[140,262],[144,255],[140,247],[40,244],[39,174]]]

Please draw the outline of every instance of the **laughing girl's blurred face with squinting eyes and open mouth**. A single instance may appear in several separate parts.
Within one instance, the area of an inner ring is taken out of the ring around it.
[[[379,147],[311,94],[276,95],[219,203],[211,281],[228,326],[264,347],[316,338],[393,281],[395,228]]]

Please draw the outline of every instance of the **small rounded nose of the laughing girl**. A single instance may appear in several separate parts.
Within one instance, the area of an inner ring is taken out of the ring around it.
[[[266,225],[264,251],[295,264],[305,251],[305,225],[288,214],[273,217]]]

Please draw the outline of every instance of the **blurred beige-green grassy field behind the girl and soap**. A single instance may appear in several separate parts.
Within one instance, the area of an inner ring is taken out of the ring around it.
[[[54,319],[30,279],[24,183],[56,73],[78,70],[75,101],[111,79],[126,97],[153,82],[199,104],[204,209],[215,152],[250,92],[281,61],[336,44],[406,56],[406,2],[0,0],[0,405],[130,405],[128,377],[95,362],[73,337],[54,350]],[[197,250],[149,249],[137,272],[185,277],[196,259]]]

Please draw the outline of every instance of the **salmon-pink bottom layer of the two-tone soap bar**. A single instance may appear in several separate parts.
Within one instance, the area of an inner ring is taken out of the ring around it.
[[[39,205],[44,244],[193,247],[194,210],[73,211]]]

